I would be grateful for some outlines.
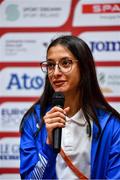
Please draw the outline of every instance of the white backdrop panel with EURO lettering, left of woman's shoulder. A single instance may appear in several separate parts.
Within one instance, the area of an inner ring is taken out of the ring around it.
[[[0,131],[16,132],[23,115],[32,103],[27,102],[7,102],[0,106]]]

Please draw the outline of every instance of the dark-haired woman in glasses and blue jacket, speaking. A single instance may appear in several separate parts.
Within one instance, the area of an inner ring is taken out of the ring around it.
[[[61,36],[41,63],[46,72],[42,97],[21,122],[22,179],[79,179],[53,149],[53,129],[62,128],[62,149],[74,167],[91,179],[120,178],[120,114],[105,100],[87,44]],[[64,94],[64,108],[52,107],[54,92]]]

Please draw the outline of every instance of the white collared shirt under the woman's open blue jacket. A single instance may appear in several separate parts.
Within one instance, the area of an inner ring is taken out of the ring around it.
[[[82,110],[71,118],[66,117],[66,126],[62,128],[61,146],[73,164],[89,178],[92,138],[87,134],[87,125]],[[58,179],[78,179],[60,154],[56,159],[56,172]]]

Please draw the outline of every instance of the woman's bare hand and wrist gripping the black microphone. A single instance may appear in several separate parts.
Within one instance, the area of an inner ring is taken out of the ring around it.
[[[50,111],[46,113],[46,115],[43,117],[44,122],[46,124],[46,129],[48,133],[47,137],[47,144],[53,143],[53,136],[52,132],[54,128],[64,128],[65,127],[65,121],[66,121],[66,115],[69,111],[69,107],[62,109],[58,106],[54,106]]]

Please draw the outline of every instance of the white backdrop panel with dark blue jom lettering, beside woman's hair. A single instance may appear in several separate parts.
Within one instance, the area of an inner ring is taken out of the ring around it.
[[[90,47],[96,61],[120,61],[118,31],[83,32],[79,35]]]

